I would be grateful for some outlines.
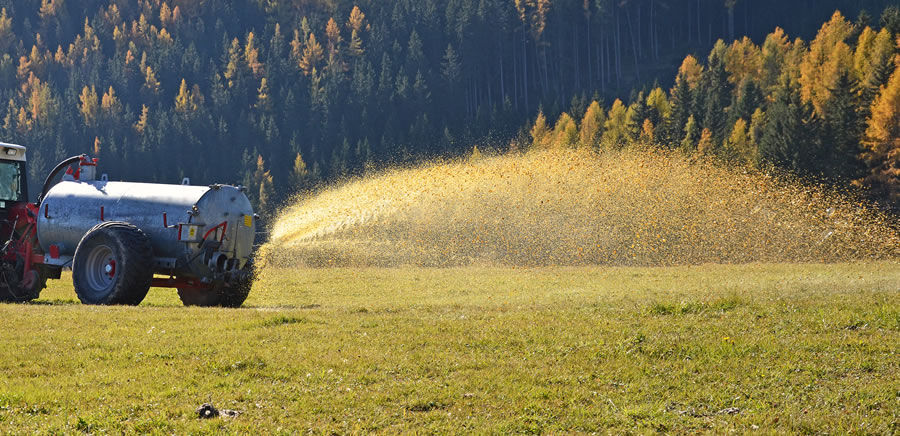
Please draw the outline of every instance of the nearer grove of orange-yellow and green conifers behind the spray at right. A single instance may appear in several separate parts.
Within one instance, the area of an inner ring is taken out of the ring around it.
[[[536,147],[658,146],[749,167],[777,167],[900,200],[900,35],[835,12],[806,43],[782,29],[761,46],[719,40],[705,62],[688,55],[675,85],[573,104]]]

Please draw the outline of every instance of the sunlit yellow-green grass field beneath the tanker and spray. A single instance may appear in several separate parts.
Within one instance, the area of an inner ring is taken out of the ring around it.
[[[66,279],[0,320],[0,433],[900,432],[896,262],[269,270],[237,310]]]

